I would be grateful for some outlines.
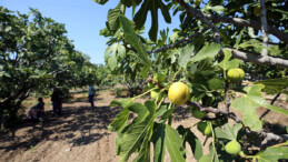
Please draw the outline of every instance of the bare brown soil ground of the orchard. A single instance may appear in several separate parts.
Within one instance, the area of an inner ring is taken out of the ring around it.
[[[117,134],[110,132],[107,126],[113,120],[121,108],[109,107],[116,98],[116,92],[105,90],[96,98],[96,108],[91,109],[87,94],[76,92],[73,100],[63,104],[63,117],[52,113],[51,105],[46,105],[46,119],[42,123],[23,121],[12,130],[0,134],[0,162],[117,162],[115,154]],[[138,102],[143,102],[139,99]],[[49,102],[49,99],[46,100]],[[276,103],[287,108],[286,101]],[[261,114],[265,109],[259,109]],[[236,112],[238,113],[238,112]],[[282,125],[288,125],[288,118],[270,112],[265,120]],[[199,120],[185,113],[183,109],[177,109],[172,126],[182,124],[191,126]],[[192,128],[195,134],[205,141],[205,136]],[[208,140],[203,153],[208,153]],[[189,149],[188,149],[189,152]],[[166,162],[170,161],[166,155]],[[195,161],[188,153],[189,162]]]

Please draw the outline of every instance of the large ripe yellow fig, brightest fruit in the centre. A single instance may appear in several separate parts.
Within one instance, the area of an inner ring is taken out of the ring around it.
[[[189,98],[189,89],[182,82],[172,83],[168,91],[168,98],[173,104],[183,104]]]

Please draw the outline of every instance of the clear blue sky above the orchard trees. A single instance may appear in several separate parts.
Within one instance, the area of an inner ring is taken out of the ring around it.
[[[29,8],[38,9],[43,17],[64,23],[67,36],[73,40],[76,50],[89,55],[90,62],[105,64],[107,38],[99,33],[106,28],[108,10],[113,9],[118,2],[119,0],[109,0],[105,6],[100,6],[92,0],[0,0],[0,6],[21,13],[28,13]],[[131,9],[127,10],[126,16],[131,19]],[[167,24],[159,13],[159,30],[168,27],[171,34],[172,29],[179,26],[177,18],[179,17],[172,19],[171,24]],[[146,33],[148,33],[149,19],[146,26]],[[147,34],[143,37],[148,38]]]

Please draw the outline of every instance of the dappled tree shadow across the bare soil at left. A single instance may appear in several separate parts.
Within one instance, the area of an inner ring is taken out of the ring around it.
[[[43,140],[89,144],[109,134],[107,128],[120,111],[121,108],[110,107],[66,107],[62,117],[48,111],[42,123],[23,121],[0,134],[0,150],[30,149]]]

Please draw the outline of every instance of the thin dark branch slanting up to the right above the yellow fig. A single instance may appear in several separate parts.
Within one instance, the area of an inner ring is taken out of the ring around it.
[[[179,41],[176,41],[175,43],[172,44],[168,44],[168,45],[165,45],[162,48],[159,48],[159,49],[156,49],[156,50],[152,50],[152,51],[147,51],[147,53],[158,53],[158,52],[161,52],[161,51],[166,51],[166,50],[169,50],[169,49],[172,49],[172,48],[176,48],[178,45],[180,45],[182,42],[186,42],[186,41],[189,41],[198,36],[200,36],[201,33],[206,32],[209,28],[205,28],[205,29],[201,29],[200,31],[198,31],[197,33],[195,34],[191,34],[187,38],[183,38]]]

